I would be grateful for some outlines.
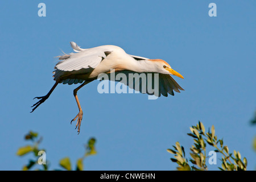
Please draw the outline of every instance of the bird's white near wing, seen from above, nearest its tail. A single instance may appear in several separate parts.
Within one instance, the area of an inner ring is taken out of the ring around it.
[[[59,59],[62,61],[56,64],[55,69],[60,71],[78,71],[82,68],[96,68],[105,59],[106,55],[111,52],[111,50],[102,47],[81,49],[74,42],[71,42],[71,47],[76,53],[59,56]]]

